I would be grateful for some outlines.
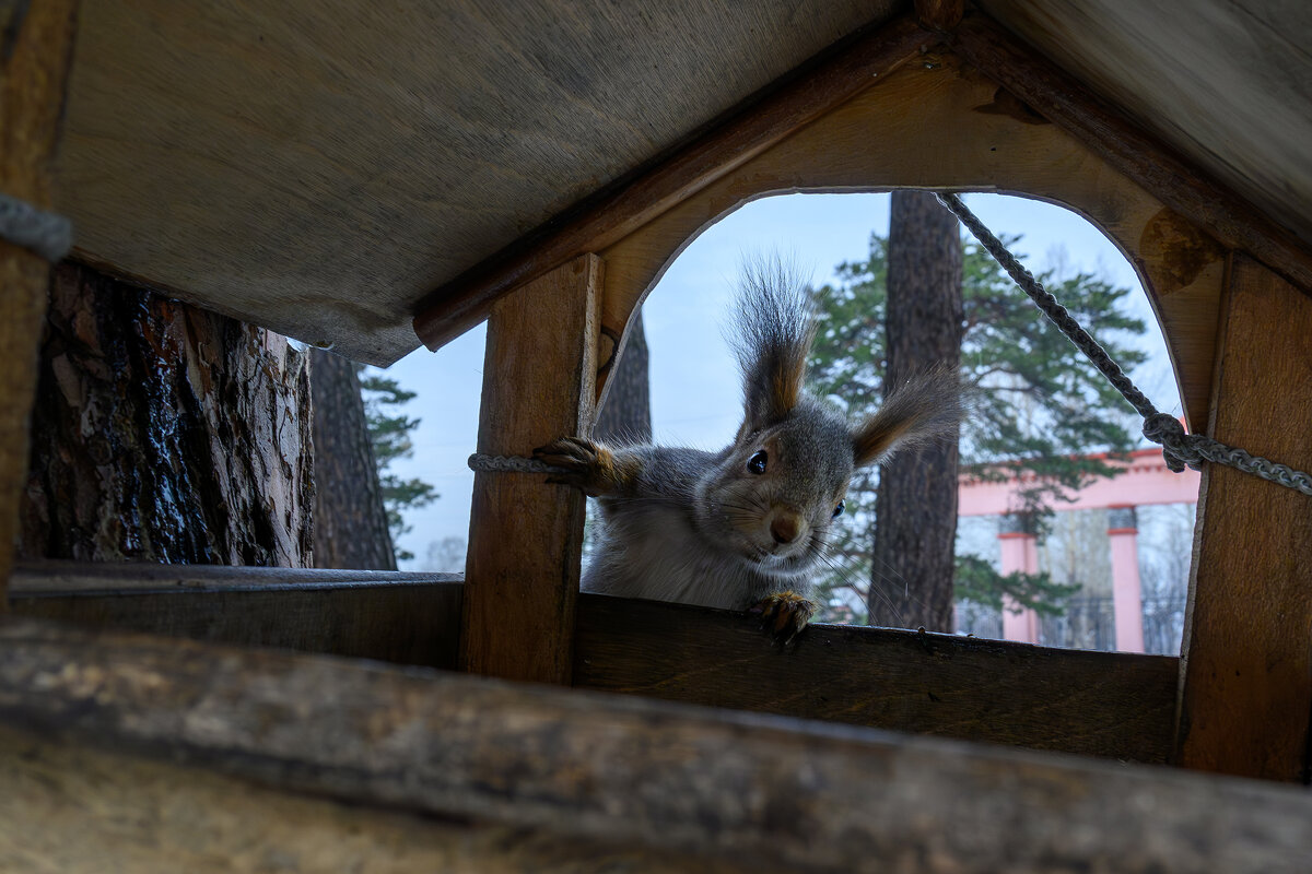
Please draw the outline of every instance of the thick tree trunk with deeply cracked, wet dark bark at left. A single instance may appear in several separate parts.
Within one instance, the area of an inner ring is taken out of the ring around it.
[[[308,404],[283,337],[62,265],[20,556],[308,566]]]

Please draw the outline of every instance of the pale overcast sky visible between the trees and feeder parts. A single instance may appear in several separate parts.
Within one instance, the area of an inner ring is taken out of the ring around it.
[[[1022,235],[1018,252],[1034,273],[1097,273],[1134,291],[1131,307],[1149,325],[1149,360],[1132,376],[1164,411],[1181,414],[1161,330],[1130,262],[1097,228],[1063,208],[1015,197],[975,194],[967,204],[994,233]],[[887,194],[791,194],[745,204],[708,228],[669,266],[644,305],[651,346],[652,426],[657,443],[718,449],[737,428],[741,400],[720,326],[744,256],[791,256],[816,284],[830,282],[844,261],[867,257],[870,233],[888,233]],[[1034,311],[1036,318],[1042,318]],[[407,514],[413,531],[400,545],[424,566],[428,545],[468,536],[474,474],[466,459],[478,436],[484,329],[437,352],[420,349],[387,373],[417,397],[407,415],[421,419],[415,457],[396,461],[401,477],[420,477],[441,498]]]

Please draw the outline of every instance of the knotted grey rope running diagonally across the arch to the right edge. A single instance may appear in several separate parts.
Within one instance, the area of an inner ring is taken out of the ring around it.
[[[938,200],[960,219],[966,229],[1006,270],[1012,280],[1021,287],[1021,291],[1030,296],[1030,300],[1043,311],[1043,314],[1093,362],[1093,366],[1107,377],[1107,381],[1120,392],[1120,396],[1135,408],[1144,419],[1144,436],[1153,443],[1161,444],[1161,455],[1168,468],[1179,473],[1185,469],[1185,465],[1198,470],[1203,461],[1215,461],[1216,464],[1224,464],[1269,480],[1270,482],[1295,489],[1305,495],[1312,495],[1312,476],[1302,470],[1295,470],[1277,461],[1269,461],[1261,456],[1249,455],[1244,449],[1237,449],[1202,434],[1186,434],[1176,417],[1162,413],[1152,405],[1152,401],[1126,376],[1120,366],[1111,360],[1111,356],[1098,345],[1098,341],[1025,269],[1025,265],[1015,259],[1015,256],[1008,252],[1006,246],[993,236],[993,232],[985,228],[975,214],[966,208],[959,197],[955,194],[939,194]]]

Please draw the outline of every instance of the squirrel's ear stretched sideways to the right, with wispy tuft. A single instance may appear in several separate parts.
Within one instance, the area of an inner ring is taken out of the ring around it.
[[[964,411],[955,368],[935,367],[918,373],[895,388],[879,411],[853,431],[853,460],[862,468],[896,448],[946,436],[956,430]]]

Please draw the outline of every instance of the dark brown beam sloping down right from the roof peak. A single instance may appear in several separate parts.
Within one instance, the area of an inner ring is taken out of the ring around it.
[[[1304,294],[1312,252],[1233,191],[1145,134],[1035,50],[981,14],[954,30],[953,51],[1111,168],[1232,249],[1244,249]]]

